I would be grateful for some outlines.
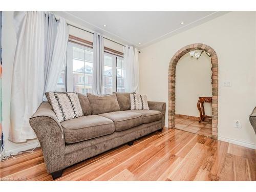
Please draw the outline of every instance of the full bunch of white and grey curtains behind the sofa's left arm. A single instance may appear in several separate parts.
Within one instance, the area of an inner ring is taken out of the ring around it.
[[[49,17],[49,19],[48,19]],[[34,139],[29,118],[46,91],[55,91],[65,61],[68,27],[62,17],[38,12],[14,12],[17,46],[13,63],[9,140]]]

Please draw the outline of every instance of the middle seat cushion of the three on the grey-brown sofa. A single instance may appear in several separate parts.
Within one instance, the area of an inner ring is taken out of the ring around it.
[[[127,130],[143,123],[142,114],[132,111],[116,111],[99,115],[111,119],[115,123],[115,131]]]

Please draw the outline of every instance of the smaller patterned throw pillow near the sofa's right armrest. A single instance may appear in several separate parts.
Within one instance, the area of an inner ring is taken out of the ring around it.
[[[150,110],[147,104],[146,95],[130,94],[131,110]]]

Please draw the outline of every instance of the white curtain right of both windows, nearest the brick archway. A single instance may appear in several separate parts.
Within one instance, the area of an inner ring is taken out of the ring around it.
[[[138,49],[123,48],[124,88],[125,92],[139,93],[139,58]]]

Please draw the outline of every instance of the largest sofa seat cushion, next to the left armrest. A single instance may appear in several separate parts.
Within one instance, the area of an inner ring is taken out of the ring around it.
[[[60,123],[66,143],[76,143],[115,132],[114,122],[98,115],[88,115]]]

